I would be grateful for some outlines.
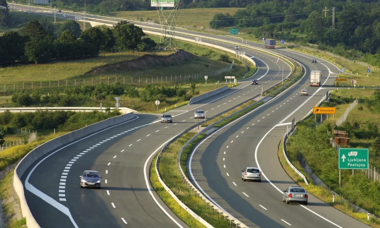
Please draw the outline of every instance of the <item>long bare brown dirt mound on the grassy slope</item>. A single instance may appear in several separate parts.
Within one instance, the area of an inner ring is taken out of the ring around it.
[[[107,64],[98,68],[95,68],[87,73],[86,75],[102,74],[109,71],[122,70],[122,71],[134,71],[134,70],[149,70],[157,66],[170,66],[184,63],[190,59],[197,58],[195,55],[178,50],[178,52],[170,55],[150,55],[146,54],[136,60],[131,60],[127,62],[112,63]]]

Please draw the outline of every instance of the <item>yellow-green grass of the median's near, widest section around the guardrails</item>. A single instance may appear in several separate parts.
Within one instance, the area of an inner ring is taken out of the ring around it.
[[[184,136],[180,137],[176,142],[171,144],[162,154],[160,161],[160,172],[161,177],[165,184],[173,191],[173,193],[188,206],[189,209],[194,211],[196,214],[200,215],[206,222],[210,223],[215,228],[227,228],[230,227],[228,221],[224,221],[224,217],[215,213],[214,210],[202,202],[201,199],[197,198],[188,190],[188,186],[184,184],[181,180],[181,176],[177,171],[176,158],[179,152],[179,149],[196,133],[187,133]],[[200,139],[196,140],[198,142]],[[191,144],[188,150],[191,147],[196,145],[196,142]],[[157,157],[153,160],[155,164]],[[158,180],[155,165],[152,165],[150,168],[150,182],[154,187],[155,191],[158,193],[160,198],[165,202],[166,205],[187,225],[192,228],[201,228],[204,227],[198,220],[193,218],[185,209],[183,209],[172,197],[166,192],[165,188],[162,187],[161,183]]]

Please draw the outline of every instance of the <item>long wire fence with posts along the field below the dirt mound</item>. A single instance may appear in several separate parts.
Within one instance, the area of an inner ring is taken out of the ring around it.
[[[2,92],[23,90],[23,89],[38,89],[38,88],[51,88],[51,87],[69,87],[69,86],[82,86],[82,85],[99,85],[99,84],[115,84],[119,82],[120,84],[132,84],[132,85],[143,85],[143,84],[154,84],[154,83],[173,83],[173,82],[185,82],[185,81],[195,81],[204,80],[204,76],[217,76],[228,71],[231,71],[234,66],[234,61],[229,67],[223,67],[218,70],[208,70],[196,73],[188,74],[175,74],[175,75],[165,75],[156,77],[112,77],[112,78],[87,78],[87,79],[71,79],[71,80],[52,80],[52,81],[39,81],[39,82],[18,82],[13,84],[4,84],[4,87],[0,89]]]

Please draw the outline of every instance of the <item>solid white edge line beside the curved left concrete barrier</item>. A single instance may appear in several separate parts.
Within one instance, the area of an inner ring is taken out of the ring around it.
[[[52,152],[51,154],[47,155],[46,157],[44,157],[43,159],[41,159],[41,161],[39,161],[33,168],[32,170],[29,172],[28,176],[26,177],[25,179],[25,188],[33,193],[34,195],[40,197],[41,199],[43,199],[46,203],[50,204],[51,206],[57,208],[59,211],[61,211],[63,214],[67,215],[69,218],[70,218],[70,221],[71,223],[73,223],[74,227],[75,228],[79,228],[79,226],[76,224],[76,222],[74,221],[74,218],[73,216],[71,215],[70,213],[70,210],[66,207],[66,206],[63,206],[63,204],[59,203],[58,201],[56,201],[55,199],[51,198],[50,196],[46,195],[45,193],[41,192],[40,190],[38,190],[36,187],[34,187],[32,184],[29,183],[29,178],[30,176],[32,175],[33,171],[37,168],[38,165],[40,165],[44,160],[46,160],[46,158],[50,157],[51,155],[55,154],[56,152],[68,147],[68,146],[71,146],[72,144],[76,143],[76,142],[79,142],[79,141],[82,141],[83,139],[87,139],[93,135],[97,135],[98,133],[100,132],[103,132],[103,131],[106,131],[108,129],[111,129],[111,128],[114,128],[114,127],[117,127],[117,126],[120,126],[124,123],[128,123],[128,122],[131,122],[133,120],[137,120],[139,117],[138,116],[135,116],[134,119],[132,120],[128,120],[126,122],[123,122],[123,123],[119,123],[117,125],[114,125],[114,126],[111,126],[109,128],[106,128],[106,129],[103,129],[101,131],[98,131],[98,132],[95,132],[93,133],[92,135],[89,135],[89,136],[86,136],[84,138],[81,138],[75,142],[71,142],[70,144],[66,145],[66,146],[63,146],[61,148],[59,148],[58,150],[55,150],[54,152]],[[62,186],[63,187],[63,186]]]

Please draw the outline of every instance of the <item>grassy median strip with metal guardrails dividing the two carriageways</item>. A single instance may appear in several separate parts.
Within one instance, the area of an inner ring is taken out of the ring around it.
[[[302,78],[305,75],[304,68],[300,64],[299,66],[299,74],[272,93],[279,94],[290,86],[289,83],[294,84]],[[154,158],[150,167],[152,186],[166,205],[190,227],[224,228],[230,227],[231,224],[247,227],[203,196],[188,180],[188,174],[184,170],[188,155],[196,144],[206,137],[207,130],[222,127],[265,103],[265,98],[256,101],[257,98],[258,95],[201,122],[204,128],[199,133],[199,125],[193,125],[166,144]],[[192,216],[193,213],[196,215]]]

